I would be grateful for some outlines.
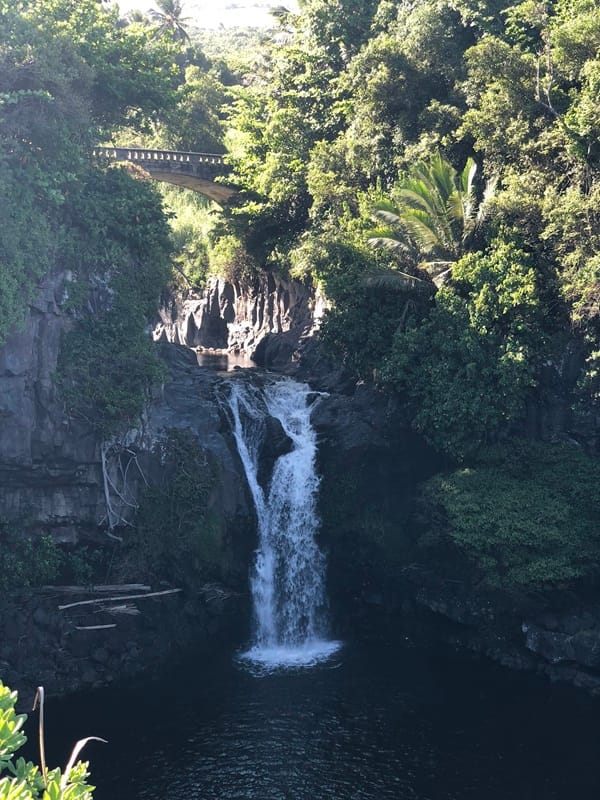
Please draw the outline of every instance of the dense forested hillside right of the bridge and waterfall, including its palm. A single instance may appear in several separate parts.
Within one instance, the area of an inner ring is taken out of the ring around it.
[[[597,576],[599,45],[585,0],[312,0],[228,91],[221,268],[322,287],[323,346],[447,459],[411,556],[511,592]]]

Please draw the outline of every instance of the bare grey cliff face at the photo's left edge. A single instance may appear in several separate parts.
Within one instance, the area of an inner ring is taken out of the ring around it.
[[[50,275],[22,332],[0,347],[0,516],[73,540],[102,513],[98,443],[64,413],[54,373],[69,320]]]

